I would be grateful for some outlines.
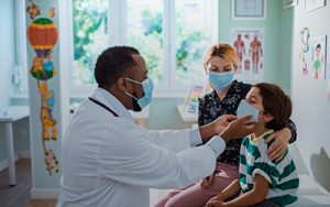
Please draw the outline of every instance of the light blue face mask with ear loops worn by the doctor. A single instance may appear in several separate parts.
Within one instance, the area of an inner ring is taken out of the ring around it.
[[[150,102],[152,101],[152,95],[153,95],[153,89],[154,89],[154,85],[153,81],[150,78],[146,78],[144,81],[140,83],[130,78],[127,78],[128,80],[135,83],[135,84],[140,84],[143,87],[143,97],[138,98],[129,92],[125,91],[127,95],[129,95],[130,97],[132,97],[133,99],[133,103],[135,103],[134,106],[134,111],[141,111],[144,107],[146,107],[147,105],[150,105]],[[138,103],[138,106],[136,106]]]

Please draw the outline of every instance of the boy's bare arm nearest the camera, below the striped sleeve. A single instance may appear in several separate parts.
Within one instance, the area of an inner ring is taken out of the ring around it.
[[[228,203],[223,203],[223,206],[226,207],[232,207],[232,206],[252,206],[254,204],[258,204],[263,200],[265,200],[265,197],[267,195],[270,188],[270,183],[265,177],[263,177],[260,174],[256,174],[254,177],[254,187],[250,192],[240,195],[233,200],[230,200]]]

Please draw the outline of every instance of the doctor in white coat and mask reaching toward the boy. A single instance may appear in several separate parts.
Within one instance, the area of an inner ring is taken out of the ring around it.
[[[78,108],[63,140],[58,207],[146,207],[148,187],[185,187],[210,175],[226,142],[254,127],[245,124],[251,117],[222,116],[195,130],[140,128],[128,110],[150,103],[153,84],[133,47],[106,50],[95,78],[98,89]]]

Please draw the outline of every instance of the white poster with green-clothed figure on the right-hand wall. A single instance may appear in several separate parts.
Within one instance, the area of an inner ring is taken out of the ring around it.
[[[312,37],[310,41],[310,75],[314,79],[326,78],[327,35]]]

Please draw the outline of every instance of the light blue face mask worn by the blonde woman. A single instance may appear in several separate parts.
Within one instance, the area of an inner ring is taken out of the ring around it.
[[[209,81],[217,91],[223,91],[233,79],[233,72],[209,72]]]

